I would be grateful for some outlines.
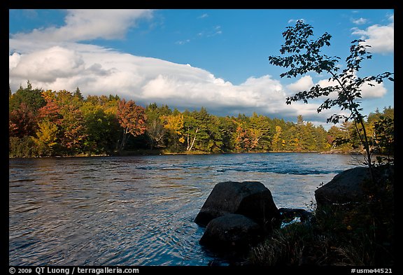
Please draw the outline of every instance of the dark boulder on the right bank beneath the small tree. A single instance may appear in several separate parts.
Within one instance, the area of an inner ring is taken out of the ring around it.
[[[341,172],[315,191],[317,206],[362,202],[365,199],[363,184],[370,177],[367,167],[355,167]]]

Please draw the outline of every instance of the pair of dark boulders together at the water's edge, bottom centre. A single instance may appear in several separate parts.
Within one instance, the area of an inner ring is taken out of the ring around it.
[[[268,188],[257,181],[214,186],[195,218],[206,226],[200,244],[218,250],[243,249],[278,227],[280,212]]]

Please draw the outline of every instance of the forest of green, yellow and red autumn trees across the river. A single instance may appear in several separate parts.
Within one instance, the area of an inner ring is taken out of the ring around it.
[[[9,88],[8,99],[9,157],[362,150],[360,129],[352,122],[325,130],[302,115],[296,123],[257,113],[220,117],[206,108],[181,112],[155,103],[139,106],[112,94],[84,98],[78,87],[74,92],[33,89],[29,81],[15,92]],[[392,122],[388,129],[379,123],[386,119]],[[373,144],[393,132],[393,121],[390,106],[367,116]]]

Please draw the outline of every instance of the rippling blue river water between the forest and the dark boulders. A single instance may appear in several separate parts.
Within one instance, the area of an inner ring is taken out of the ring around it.
[[[208,265],[193,220],[216,183],[260,181],[278,208],[355,167],[350,155],[262,153],[9,160],[9,265]]]

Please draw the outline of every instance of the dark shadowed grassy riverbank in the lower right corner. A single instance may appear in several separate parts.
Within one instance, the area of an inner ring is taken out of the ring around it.
[[[250,251],[243,265],[391,267],[394,206],[392,174],[366,183],[363,202],[316,207],[309,223],[276,230]]]

